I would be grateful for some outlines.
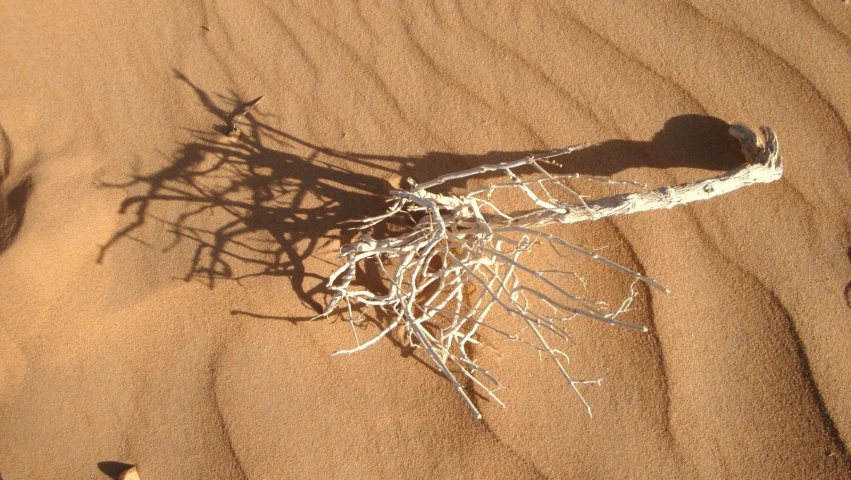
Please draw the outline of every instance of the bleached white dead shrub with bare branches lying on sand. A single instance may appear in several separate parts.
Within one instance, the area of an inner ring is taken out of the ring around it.
[[[742,153],[747,159],[741,167],[715,178],[656,190],[648,190],[635,182],[553,174],[542,167],[542,164],[552,163],[553,157],[585,146],[577,145],[513,162],[450,173],[426,183],[412,184],[406,191],[391,191],[391,206],[387,212],[357,220],[356,228],[368,229],[397,216],[418,217],[419,220],[396,236],[378,240],[365,233],[341,249],[345,263],[328,278],[328,288],[333,295],[319,317],[331,314],[343,302],[357,345],[335,352],[335,355],[368,348],[401,327],[409,344],[424,349],[476,418],[481,418],[470,398],[471,392],[465,389],[462,381],[473,390],[480,388],[503,405],[496,395],[500,383],[472,357],[472,346],[479,344],[477,332],[484,328],[502,338],[522,342],[551,358],[590,415],[591,409],[578,387],[599,385],[600,380],[572,378],[564,367],[567,355],[551,342],[568,339],[562,325],[575,317],[646,332],[645,327],[619,318],[629,309],[635,289],[630,287],[630,293],[617,308],[608,308],[565,286],[566,279],[572,279],[581,290],[585,281],[579,273],[535,270],[526,266],[522,257],[536,244],[549,244],[562,255],[586,257],[632,277],[633,285],[643,282],[668,293],[666,288],[642,273],[548,234],[543,227],[672,208],[748,185],[773,182],[783,174],[777,138],[769,127],[760,130],[764,141],[747,127],[730,127],[730,134],[741,142]],[[521,170],[528,173],[517,173]],[[431,191],[449,181],[483,174],[502,174],[503,180],[464,195]],[[622,184],[638,187],[640,191],[587,200],[569,185],[578,181]],[[528,201],[528,208],[511,212],[500,209],[491,200],[493,193],[502,189],[521,192]],[[358,267],[367,265],[380,274],[382,284],[379,288],[359,288],[353,284]],[[494,307],[504,309],[511,318],[517,319],[517,333],[487,322],[488,313]],[[371,340],[360,343],[354,327],[368,309],[379,314],[380,321],[386,321],[387,326]]]

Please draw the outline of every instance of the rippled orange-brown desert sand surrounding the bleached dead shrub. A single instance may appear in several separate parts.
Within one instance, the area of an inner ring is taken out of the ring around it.
[[[3,478],[851,477],[851,6],[314,3],[0,1]],[[672,290],[570,326],[593,418],[520,345],[477,421],[306,321],[405,177],[588,141],[569,171],[670,185],[742,161],[725,122],[784,178],[551,230]]]

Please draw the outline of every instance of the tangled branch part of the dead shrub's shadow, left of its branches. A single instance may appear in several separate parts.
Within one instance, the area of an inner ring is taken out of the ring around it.
[[[233,98],[217,102],[178,78],[222,123],[212,132],[192,132],[195,141],[183,144],[164,168],[103,184],[139,193],[122,202],[119,211],[133,220],[101,247],[98,262],[116,242],[155,220],[173,234],[171,246],[195,245],[185,280],[213,287],[221,279],[285,276],[301,301],[321,311],[317,292],[304,288],[306,278],[319,278],[305,271],[304,259],[323,242],[342,239],[341,222],[374,211],[376,192],[388,189],[386,181],[344,168],[360,159],[297,139],[252,114],[243,120],[242,134],[229,137],[230,111],[242,104]],[[183,208],[176,217],[153,212],[158,203],[177,202]]]

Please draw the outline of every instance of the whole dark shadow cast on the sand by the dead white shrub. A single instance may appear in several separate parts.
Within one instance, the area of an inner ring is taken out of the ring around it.
[[[192,131],[161,169],[134,173],[125,182],[102,183],[123,189],[119,212],[131,217],[101,246],[97,261],[118,242],[147,243],[143,227],[164,225],[173,248],[191,242],[186,281],[214,287],[221,280],[252,276],[289,279],[299,300],[321,312],[322,284],[328,271],[307,271],[305,260],[329,242],[347,243],[353,233],[342,222],[384,210],[384,194],[399,185],[392,175],[428,180],[443,173],[528,156],[534,151],[458,155],[380,156],[343,152],[314,145],[263,122],[260,107],[245,115],[238,137],[227,135],[232,112],[246,105],[235,95],[210,95],[180,72],[218,119],[212,129]],[[695,167],[728,170],[743,161],[726,122],[685,115],[669,120],[650,142],[613,140],[571,154],[570,172],[608,176],[634,167]],[[448,185],[456,187],[461,185]],[[168,208],[158,208],[158,207]],[[177,207],[177,208],[175,208]],[[179,211],[176,216],[164,217]],[[374,232],[373,235],[381,235]],[[359,275],[369,282],[369,275]],[[318,286],[308,287],[308,279]],[[250,312],[234,313],[267,317]]]

